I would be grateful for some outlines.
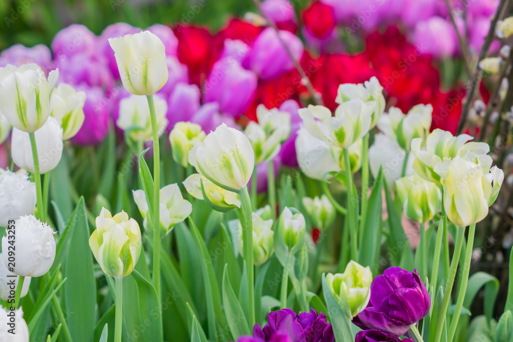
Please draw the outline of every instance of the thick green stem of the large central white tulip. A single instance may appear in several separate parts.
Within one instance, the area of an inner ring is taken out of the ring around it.
[[[249,323],[250,327],[255,324],[255,300],[254,300],[254,267],[253,267],[253,219],[251,211],[251,200],[249,199],[248,188],[240,191],[242,206],[244,209],[243,226],[243,249],[244,261],[247,265],[248,277],[248,299],[249,299]],[[242,223],[242,222],[241,222]]]

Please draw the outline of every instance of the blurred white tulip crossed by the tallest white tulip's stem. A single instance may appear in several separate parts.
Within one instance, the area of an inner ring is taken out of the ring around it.
[[[164,133],[167,126],[167,103],[159,95],[153,96],[155,116],[159,136]],[[152,139],[150,107],[144,96],[130,95],[120,102],[120,116],[116,121],[117,127],[130,131],[130,138],[136,142],[148,142]]]

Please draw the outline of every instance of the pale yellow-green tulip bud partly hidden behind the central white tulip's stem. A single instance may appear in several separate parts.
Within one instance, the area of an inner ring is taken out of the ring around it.
[[[252,214],[253,264],[262,265],[272,255],[274,247],[272,219],[263,220],[258,213]],[[243,251],[242,225],[239,222],[239,251]]]

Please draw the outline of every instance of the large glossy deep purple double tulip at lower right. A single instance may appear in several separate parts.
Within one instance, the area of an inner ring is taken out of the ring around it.
[[[379,329],[402,336],[429,312],[430,307],[429,293],[417,270],[411,273],[400,267],[390,267],[372,281],[369,305],[353,319],[353,323],[362,329]]]

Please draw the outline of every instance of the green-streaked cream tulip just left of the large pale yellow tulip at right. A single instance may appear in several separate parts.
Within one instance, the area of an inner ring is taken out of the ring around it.
[[[419,223],[428,222],[440,210],[442,191],[436,183],[418,175],[396,180],[404,215]]]

